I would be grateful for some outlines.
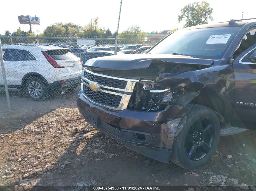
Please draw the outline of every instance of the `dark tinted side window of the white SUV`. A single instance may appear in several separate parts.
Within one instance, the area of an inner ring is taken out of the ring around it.
[[[27,50],[6,49],[4,53],[4,61],[30,61],[36,60],[35,57]]]

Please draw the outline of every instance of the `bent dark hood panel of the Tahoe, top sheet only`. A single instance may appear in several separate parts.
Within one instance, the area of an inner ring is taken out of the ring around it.
[[[198,59],[191,56],[181,56],[172,54],[130,54],[115,55],[94,58],[85,63],[87,66],[114,70],[133,70],[148,68],[151,63],[157,61],[169,62],[170,64],[191,64],[191,65],[212,65],[214,60]]]

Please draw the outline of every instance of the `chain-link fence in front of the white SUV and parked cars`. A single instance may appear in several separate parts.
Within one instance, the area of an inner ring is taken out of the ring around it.
[[[0,99],[44,101],[77,94],[85,62],[115,54],[114,38],[0,37]],[[145,53],[161,39],[118,39],[117,54]],[[137,50],[137,51],[136,51]],[[0,50],[1,51],[1,50]],[[4,66],[4,67],[3,67]],[[74,100],[75,102],[75,100]]]

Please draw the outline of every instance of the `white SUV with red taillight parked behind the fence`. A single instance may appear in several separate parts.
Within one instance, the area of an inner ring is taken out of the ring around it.
[[[42,100],[50,91],[67,91],[81,84],[81,60],[69,49],[48,46],[2,46],[8,88]],[[0,87],[4,87],[0,68]]]

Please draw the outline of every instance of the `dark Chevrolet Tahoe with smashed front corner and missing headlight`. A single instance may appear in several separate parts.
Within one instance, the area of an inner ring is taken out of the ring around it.
[[[207,163],[220,135],[255,128],[256,22],[188,27],[146,54],[85,63],[77,105],[98,131],[186,169]]]

